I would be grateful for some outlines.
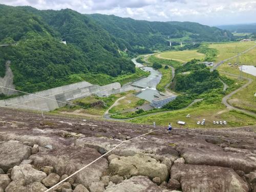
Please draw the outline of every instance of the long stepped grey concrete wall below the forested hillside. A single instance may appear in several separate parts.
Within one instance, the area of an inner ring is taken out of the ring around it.
[[[11,108],[28,109],[31,108],[44,109],[46,111],[55,110],[65,103],[73,99],[86,97],[90,95],[109,96],[124,91],[132,90],[132,87],[121,88],[119,82],[107,84],[105,86],[93,85],[89,82],[82,81],[78,83],[68,84],[67,86],[61,86],[45,91],[33,93],[33,95],[23,95],[10,99],[0,100],[0,106],[10,106]],[[46,98],[44,98],[46,97]],[[58,101],[62,102],[58,102]],[[23,106],[18,106],[23,105]]]

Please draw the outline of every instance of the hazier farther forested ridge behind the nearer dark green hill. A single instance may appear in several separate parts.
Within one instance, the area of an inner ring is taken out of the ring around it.
[[[168,46],[168,36],[189,36],[195,41],[229,41],[233,37],[228,31],[192,22],[148,22],[101,14],[89,16],[115,37],[124,39],[137,52],[139,50],[136,46],[147,49]],[[143,49],[140,51],[143,53]]]

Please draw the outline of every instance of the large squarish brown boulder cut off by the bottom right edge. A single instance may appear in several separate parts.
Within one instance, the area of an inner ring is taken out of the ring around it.
[[[231,168],[176,163],[170,177],[181,183],[183,192],[248,192],[246,182]]]

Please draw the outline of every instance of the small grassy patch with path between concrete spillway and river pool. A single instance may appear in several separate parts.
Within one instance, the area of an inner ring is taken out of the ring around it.
[[[127,93],[123,99],[119,100],[117,105],[114,106],[109,113],[114,114],[114,113],[122,113],[125,111],[131,111],[138,105],[142,105],[144,103],[148,103],[148,101],[144,99],[140,99],[139,97],[136,97],[134,95],[135,91],[131,91]]]

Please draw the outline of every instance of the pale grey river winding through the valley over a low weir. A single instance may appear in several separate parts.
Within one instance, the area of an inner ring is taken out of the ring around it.
[[[136,61],[136,58],[133,58],[132,61],[136,67],[143,67],[141,63]],[[154,98],[156,98],[155,95],[159,95],[159,91],[156,90],[156,87],[162,78],[162,74],[151,67],[144,67],[142,70],[149,71],[151,74],[148,77],[133,82],[133,84],[144,88],[142,89],[141,93],[137,95],[137,97],[151,102]]]

